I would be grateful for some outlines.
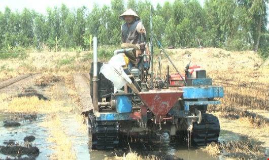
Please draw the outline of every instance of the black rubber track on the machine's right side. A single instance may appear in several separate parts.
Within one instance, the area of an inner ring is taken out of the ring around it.
[[[200,124],[193,123],[192,143],[203,146],[211,142],[217,142],[219,132],[219,119],[212,114],[203,114]]]

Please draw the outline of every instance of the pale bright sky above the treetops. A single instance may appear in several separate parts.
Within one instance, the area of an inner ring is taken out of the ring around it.
[[[125,4],[127,0],[124,0]],[[142,0],[144,1],[144,0]],[[156,8],[159,3],[163,6],[164,2],[169,1],[174,3],[174,0],[149,0]],[[204,4],[204,0],[199,0],[200,4]],[[110,5],[111,0],[0,0],[0,11],[5,12],[5,8],[8,6],[12,11],[18,10],[21,12],[24,8],[35,10],[36,12],[46,14],[47,8],[60,7],[61,4],[65,4],[68,8],[79,8],[83,5],[86,6],[90,11],[93,8],[93,4],[96,3],[99,6]]]

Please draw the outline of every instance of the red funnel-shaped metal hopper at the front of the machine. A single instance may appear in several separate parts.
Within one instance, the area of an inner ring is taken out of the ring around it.
[[[149,90],[138,95],[155,116],[165,116],[183,94],[180,90]]]

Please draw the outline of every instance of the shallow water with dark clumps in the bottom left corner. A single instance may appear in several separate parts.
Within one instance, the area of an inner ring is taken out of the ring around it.
[[[26,136],[35,136],[35,141],[31,142],[32,146],[39,148],[40,153],[36,159],[48,159],[49,156],[53,153],[53,150],[49,148],[50,145],[53,145],[46,141],[48,138],[47,129],[40,127],[40,123],[43,121],[43,116],[38,115],[36,121],[29,122],[19,121],[21,123],[18,127],[4,127],[4,120],[7,118],[7,114],[0,112],[0,145],[5,146],[4,142],[9,140],[15,140],[15,144],[18,143],[23,146],[24,137]],[[9,156],[10,158],[15,158],[15,156],[4,155],[0,153],[0,159],[6,159]],[[23,155],[22,157],[27,157]]]

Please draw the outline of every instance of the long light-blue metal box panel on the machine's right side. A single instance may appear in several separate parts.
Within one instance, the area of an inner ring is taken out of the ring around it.
[[[179,87],[183,90],[183,99],[212,99],[223,97],[223,87],[220,86],[185,86]]]

